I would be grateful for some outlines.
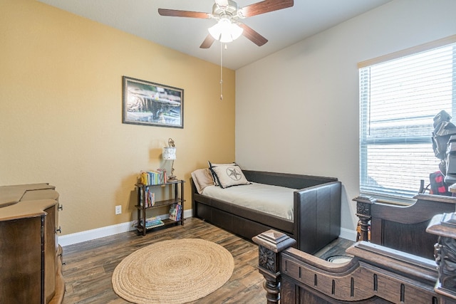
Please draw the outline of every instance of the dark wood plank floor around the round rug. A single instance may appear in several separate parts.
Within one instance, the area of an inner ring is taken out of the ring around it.
[[[64,304],[129,303],[113,291],[111,276],[115,266],[143,246],[169,239],[199,238],[227,248],[234,257],[232,277],[222,288],[193,303],[266,303],[264,278],[257,271],[258,247],[251,241],[230,234],[199,219],[189,218],[184,226],[150,231],[138,236],[135,231],[116,234],[63,247]],[[338,239],[316,256],[341,255],[352,242]]]

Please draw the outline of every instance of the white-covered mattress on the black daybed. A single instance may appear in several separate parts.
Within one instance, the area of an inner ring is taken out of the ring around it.
[[[296,189],[286,187],[252,183],[225,189],[207,186],[202,194],[293,221],[295,191]]]

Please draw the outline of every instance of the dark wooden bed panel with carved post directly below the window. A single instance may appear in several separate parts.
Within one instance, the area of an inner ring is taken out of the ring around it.
[[[436,214],[454,212],[456,197],[418,194],[415,199],[409,206],[381,204],[366,196],[353,199],[361,223],[361,241],[368,241],[370,223],[372,243],[433,258],[437,236],[426,233],[427,224]]]

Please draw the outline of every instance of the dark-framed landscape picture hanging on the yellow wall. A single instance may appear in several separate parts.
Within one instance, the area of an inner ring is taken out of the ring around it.
[[[122,77],[123,123],[184,127],[184,89]]]

